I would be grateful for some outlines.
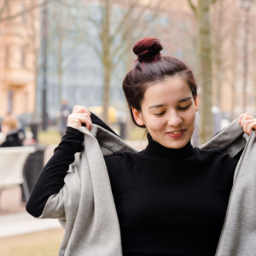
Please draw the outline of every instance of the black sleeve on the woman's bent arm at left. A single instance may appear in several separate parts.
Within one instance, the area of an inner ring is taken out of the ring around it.
[[[44,166],[26,204],[26,211],[32,216],[39,217],[49,196],[61,190],[69,165],[74,161],[74,154],[82,151],[83,143],[84,134],[77,129],[67,127],[66,134],[55,148],[54,155]]]

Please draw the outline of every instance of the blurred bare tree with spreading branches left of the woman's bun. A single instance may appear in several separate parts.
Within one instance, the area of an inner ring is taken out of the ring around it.
[[[89,44],[101,58],[103,66],[102,119],[108,122],[110,84],[113,70],[125,57],[127,48],[131,47],[134,34],[145,31],[151,21],[158,15],[165,0],[101,0],[98,1],[100,12],[96,12],[91,1],[83,1],[85,20],[96,30],[96,37],[87,37]],[[97,9],[99,10],[99,9]],[[96,44],[99,41],[100,44]]]

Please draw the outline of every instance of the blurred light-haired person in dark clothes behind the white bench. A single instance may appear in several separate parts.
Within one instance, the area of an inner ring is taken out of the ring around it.
[[[7,115],[1,124],[1,131],[5,134],[6,140],[0,147],[19,147],[22,146],[22,140],[19,137],[18,120]]]

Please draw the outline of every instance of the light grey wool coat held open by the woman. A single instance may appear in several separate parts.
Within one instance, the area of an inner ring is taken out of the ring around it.
[[[84,133],[84,151],[65,177],[61,191],[51,195],[39,218],[58,218],[65,228],[60,256],[121,256],[119,221],[103,155],[121,151],[137,152],[119,137],[98,125]],[[255,132],[248,137],[237,119],[220,131],[202,150],[218,148],[235,157],[234,185],[226,212],[216,256],[255,255],[256,253],[256,144]]]

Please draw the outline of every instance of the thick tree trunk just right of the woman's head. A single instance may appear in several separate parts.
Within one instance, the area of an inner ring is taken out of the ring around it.
[[[197,7],[198,58],[201,69],[200,144],[206,143],[213,135],[211,3],[212,0],[199,0]]]

